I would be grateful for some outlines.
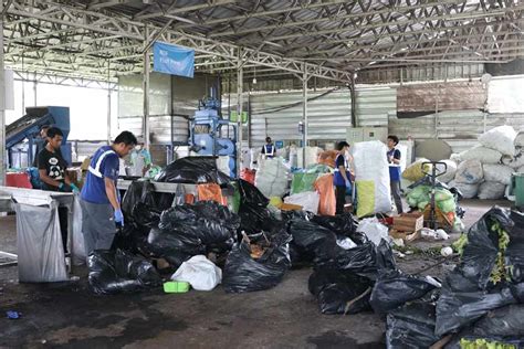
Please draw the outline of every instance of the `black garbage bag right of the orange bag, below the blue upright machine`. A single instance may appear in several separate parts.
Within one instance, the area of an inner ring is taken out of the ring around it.
[[[240,229],[244,231],[251,240],[256,241],[258,234],[272,230],[274,220],[268,210],[270,200],[260,190],[242,179],[237,181],[240,194]]]

